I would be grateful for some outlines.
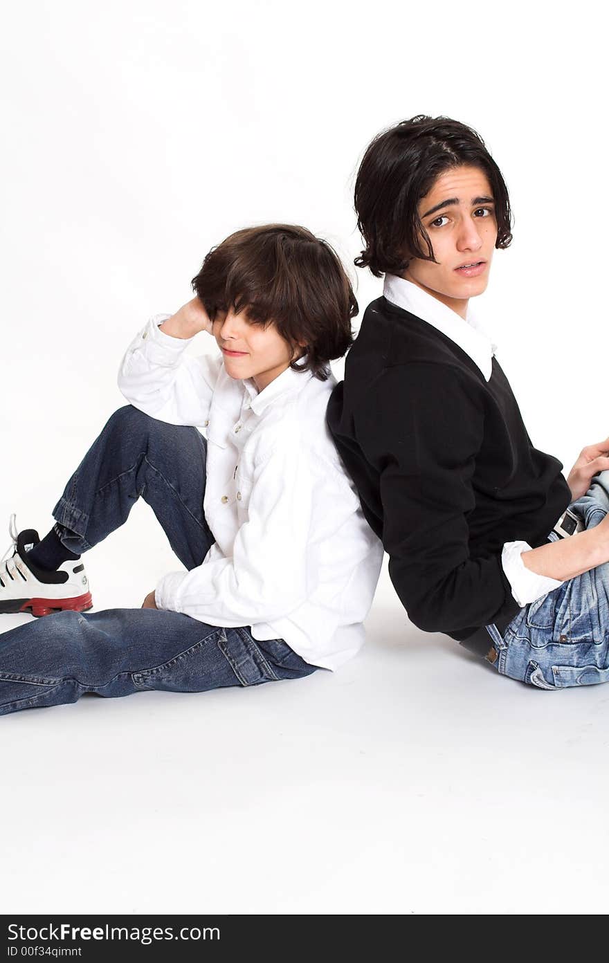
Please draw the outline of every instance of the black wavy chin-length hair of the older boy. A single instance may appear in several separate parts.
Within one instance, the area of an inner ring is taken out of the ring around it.
[[[412,257],[435,261],[418,204],[439,174],[463,165],[479,168],[489,178],[497,220],[495,247],[508,247],[508,189],[480,135],[459,120],[419,114],[377,135],[363,155],[355,206],[365,247],[356,258],[357,267],[381,277],[403,273]]]

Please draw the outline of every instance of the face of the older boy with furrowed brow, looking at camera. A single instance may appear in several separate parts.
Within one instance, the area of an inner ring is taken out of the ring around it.
[[[444,171],[418,212],[437,264],[412,258],[403,276],[464,318],[467,300],[481,295],[489,283],[497,238],[487,175],[466,166]]]

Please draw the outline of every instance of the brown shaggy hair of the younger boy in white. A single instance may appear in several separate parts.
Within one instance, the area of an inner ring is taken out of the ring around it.
[[[353,343],[357,300],[347,273],[327,241],[297,224],[236,231],[212,247],[191,283],[212,321],[232,308],[252,325],[276,325],[295,355],[290,367],[321,381]]]

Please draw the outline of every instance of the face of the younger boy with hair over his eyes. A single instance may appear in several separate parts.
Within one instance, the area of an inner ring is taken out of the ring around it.
[[[218,312],[214,321],[214,337],[225,359],[230,377],[252,377],[258,391],[274,381],[293,360],[290,346],[275,325],[252,325],[247,311],[236,314]]]

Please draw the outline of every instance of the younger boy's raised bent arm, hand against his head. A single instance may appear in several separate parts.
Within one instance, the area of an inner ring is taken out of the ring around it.
[[[203,425],[222,358],[185,353],[199,331],[212,333],[212,323],[198,298],[171,317],[150,319],[120,363],[119,389],[127,401],[172,425]]]

